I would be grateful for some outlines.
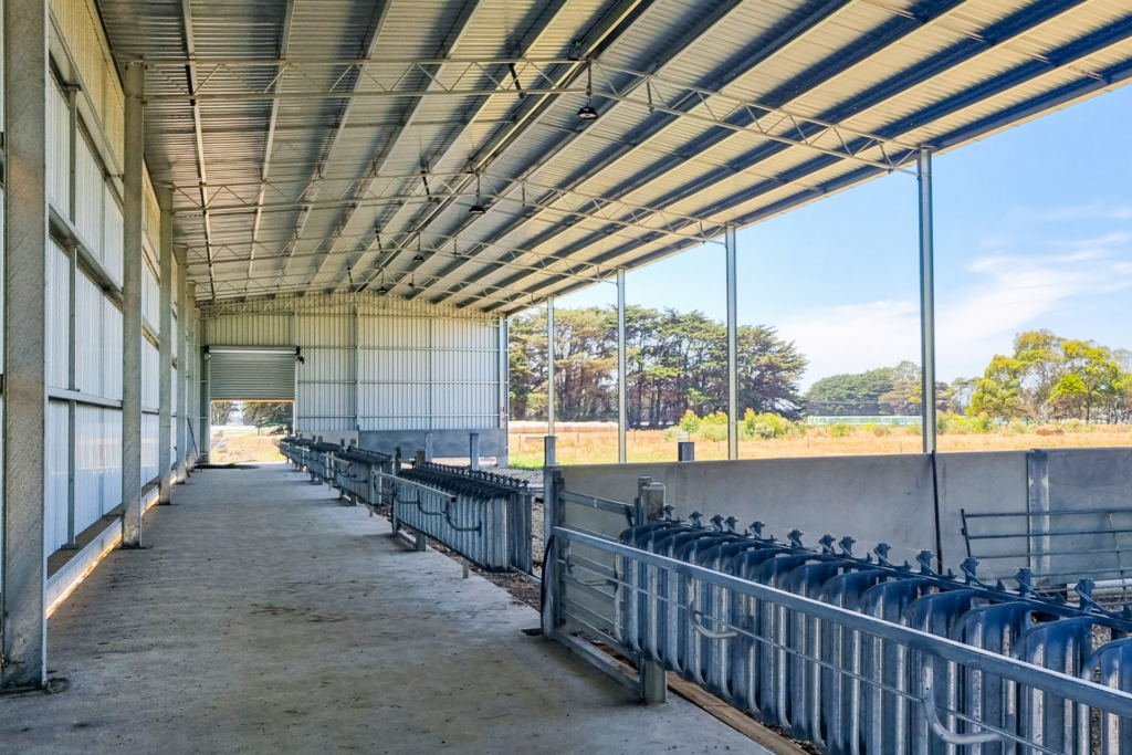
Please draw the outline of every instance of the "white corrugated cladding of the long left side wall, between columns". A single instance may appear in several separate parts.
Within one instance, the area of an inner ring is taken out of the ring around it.
[[[46,190],[52,214],[71,223],[75,238],[65,242],[52,240],[44,250],[48,307],[45,377],[52,392],[46,406],[44,437],[44,523],[49,551],[67,542],[71,507],[74,534],[77,534],[121,503],[122,412],[114,404],[122,397],[122,312],[115,302],[120,300],[123,280],[123,218],[119,196],[123,97],[120,81],[91,0],[51,0],[51,11],[68,48],[62,58],[53,48],[54,71],[68,86],[76,87],[72,100],[78,112],[74,115],[77,128],[74,129],[76,141],[72,153],[72,113],[66,94],[68,89],[52,79],[48,92]],[[158,242],[160,212],[148,175],[144,211],[147,260],[143,275],[143,316],[151,335],[160,338],[160,288],[153,254]],[[3,240],[2,220],[0,213],[0,243]],[[78,249],[72,251],[74,244]],[[76,259],[72,259],[72,254]],[[0,284],[0,295],[2,291]],[[70,342],[72,309],[74,344]],[[175,334],[179,333],[175,321],[172,331],[166,337],[174,338],[175,344]],[[157,410],[160,401],[158,351],[145,337],[142,351],[142,400],[144,407],[152,410],[142,419],[140,482],[145,484],[157,475],[158,417],[152,412]],[[75,362],[74,379],[71,359]],[[174,370],[174,404],[177,375]],[[75,443],[74,470],[70,469],[71,437]]]

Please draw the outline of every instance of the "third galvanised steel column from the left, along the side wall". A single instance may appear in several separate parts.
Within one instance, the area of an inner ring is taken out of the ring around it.
[[[161,268],[157,342],[157,503],[170,503],[173,484],[173,190],[161,189],[161,243],[157,251]]]

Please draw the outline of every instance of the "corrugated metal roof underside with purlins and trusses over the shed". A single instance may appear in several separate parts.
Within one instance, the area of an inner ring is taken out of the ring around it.
[[[98,5],[216,301],[509,312],[1132,76],[1126,0]]]

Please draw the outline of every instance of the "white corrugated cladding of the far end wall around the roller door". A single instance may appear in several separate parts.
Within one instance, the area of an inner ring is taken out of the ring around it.
[[[299,346],[298,430],[498,427],[498,318],[377,295],[272,306],[206,308],[205,343]]]

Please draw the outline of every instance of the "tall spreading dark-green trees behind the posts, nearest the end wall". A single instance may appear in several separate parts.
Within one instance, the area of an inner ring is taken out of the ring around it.
[[[626,307],[626,387],[631,427],[668,427],[688,410],[727,410],[727,328],[703,312]],[[511,325],[511,400],[515,419],[544,419],[544,310]],[[612,307],[555,310],[555,393],[564,421],[617,419],[617,312]],[[738,401],[756,412],[797,417],[806,359],[765,326],[738,328]]]

